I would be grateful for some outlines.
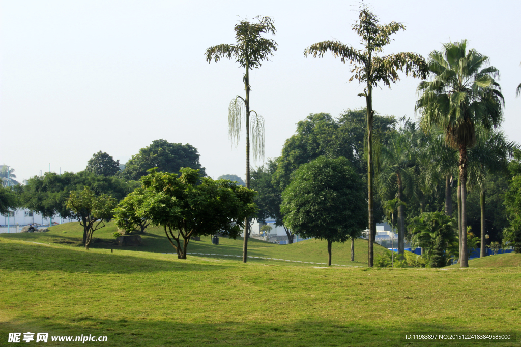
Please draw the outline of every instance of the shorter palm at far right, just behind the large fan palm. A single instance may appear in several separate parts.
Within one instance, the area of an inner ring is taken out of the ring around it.
[[[476,144],[468,151],[469,187],[479,189],[481,211],[480,257],[487,255],[485,206],[487,196],[487,177],[489,174],[506,173],[508,158],[519,149],[515,142],[508,142],[502,131],[486,131],[477,128]]]

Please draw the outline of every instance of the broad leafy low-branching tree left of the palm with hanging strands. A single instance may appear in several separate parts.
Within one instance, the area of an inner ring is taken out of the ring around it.
[[[244,220],[255,214],[255,191],[225,179],[200,178],[199,170],[180,171],[178,176],[149,170],[134,210],[138,218],[162,226],[178,258],[187,259],[192,237],[219,233],[237,238]]]

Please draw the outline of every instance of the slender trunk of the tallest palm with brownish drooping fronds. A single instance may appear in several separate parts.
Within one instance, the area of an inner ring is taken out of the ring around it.
[[[366,66],[366,71],[370,71],[370,55],[369,55],[369,66]],[[367,254],[367,266],[374,266],[374,207],[373,207],[373,85],[371,85],[370,79],[367,79],[367,95],[365,97],[367,104],[367,205],[369,210],[369,249]]]

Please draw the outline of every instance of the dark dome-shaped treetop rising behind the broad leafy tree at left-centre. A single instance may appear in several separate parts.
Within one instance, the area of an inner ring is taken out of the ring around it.
[[[170,173],[179,173],[181,168],[199,169],[201,176],[206,176],[206,169],[201,166],[195,147],[170,143],[164,139],[154,140],[150,146],[141,148],[137,155],[129,159],[120,174],[128,180],[137,181],[152,168]]]

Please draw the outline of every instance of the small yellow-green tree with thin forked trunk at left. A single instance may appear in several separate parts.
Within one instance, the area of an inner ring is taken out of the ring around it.
[[[85,249],[89,249],[92,235],[113,217],[112,210],[116,207],[116,199],[106,194],[97,195],[89,187],[82,191],[71,191],[66,202],[66,208],[83,227],[86,234]]]

